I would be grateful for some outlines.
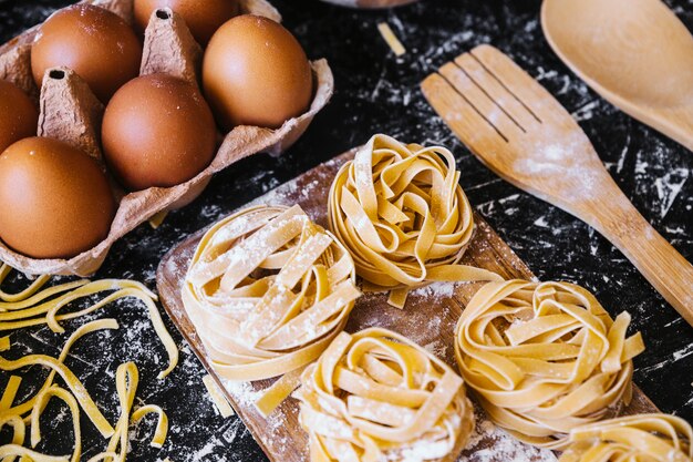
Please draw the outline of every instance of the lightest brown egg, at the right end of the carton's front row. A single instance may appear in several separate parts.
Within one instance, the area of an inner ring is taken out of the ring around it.
[[[225,130],[277,129],[306,112],[312,73],[299,42],[277,22],[239,16],[214,34],[203,64],[207,101]]]

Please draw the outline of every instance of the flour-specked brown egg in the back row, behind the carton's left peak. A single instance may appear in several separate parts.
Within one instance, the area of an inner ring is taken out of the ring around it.
[[[39,88],[46,69],[66,66],[89,83],[102,101],[139,74],[142,43],[117,14],[91,4],[74,4],[41,25],[31,48],[31,70]]]

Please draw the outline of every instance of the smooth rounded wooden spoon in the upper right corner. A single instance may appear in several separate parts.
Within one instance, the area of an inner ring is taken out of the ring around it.
[[[541,24],[597,93],[693,150],[693,37],[661,0],[545,0]]]

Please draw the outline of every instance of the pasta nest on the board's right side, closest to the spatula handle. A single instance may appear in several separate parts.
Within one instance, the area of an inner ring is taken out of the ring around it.
[[[521,441],[551,449],[566,433],[629,402],[640,332],[612,320],[583,288],[567,283],[489,283],[455,331],[462,376],[490,419]]]

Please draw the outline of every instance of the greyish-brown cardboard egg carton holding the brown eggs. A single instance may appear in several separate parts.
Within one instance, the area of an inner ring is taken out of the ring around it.
[[[106,8],[130,24],[134,22],[133,0],[94,0],[83,3]],[[241,0],[241,12],[281,21],[279,12],[266,0]],[[59,138],[77,146],[96,158],[105,170],[99,142],[104,106],[89,85],[66,68],[48,70],[40,91],[33,81],[31,43],[39,28],[29,29],[0,47],[0,79],[13,82],[39,104],[39,136]],[[178,14],[169,9],[157,10],[152,14],[145,32],[141,75],[165,72],[199,85],[201,57],[201,48]],[[29,275],[92,275],[101,267],[117,239],[161,212],[189,204],[205,189],[215,173],[252,154],[269,152],[279,155],[291,146],[333,92],[333,76],[327,61],[313,61],[311,66],[314,95],[308,112],[286,121],[277,130],[241,125],[227,134],[219,133],[220,144],[211,164],[193,179],[173,187],[151,187],[127,193],[111,178],[118,208],[107,237],[95,247],[70,259],[34,259],[13,251],[0,240],[0,260]]]

